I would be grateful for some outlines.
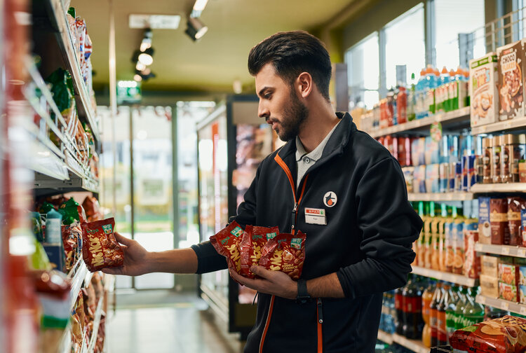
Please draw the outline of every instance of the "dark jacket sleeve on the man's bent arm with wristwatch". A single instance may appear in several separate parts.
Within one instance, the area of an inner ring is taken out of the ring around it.
[[[385,158],[368,168],[356,191],[363,260],[341,268],[337,276],[345,296],[354,298],[403,286],[414,261],[412,242],[422,219],[407,201],[400,165]]]

